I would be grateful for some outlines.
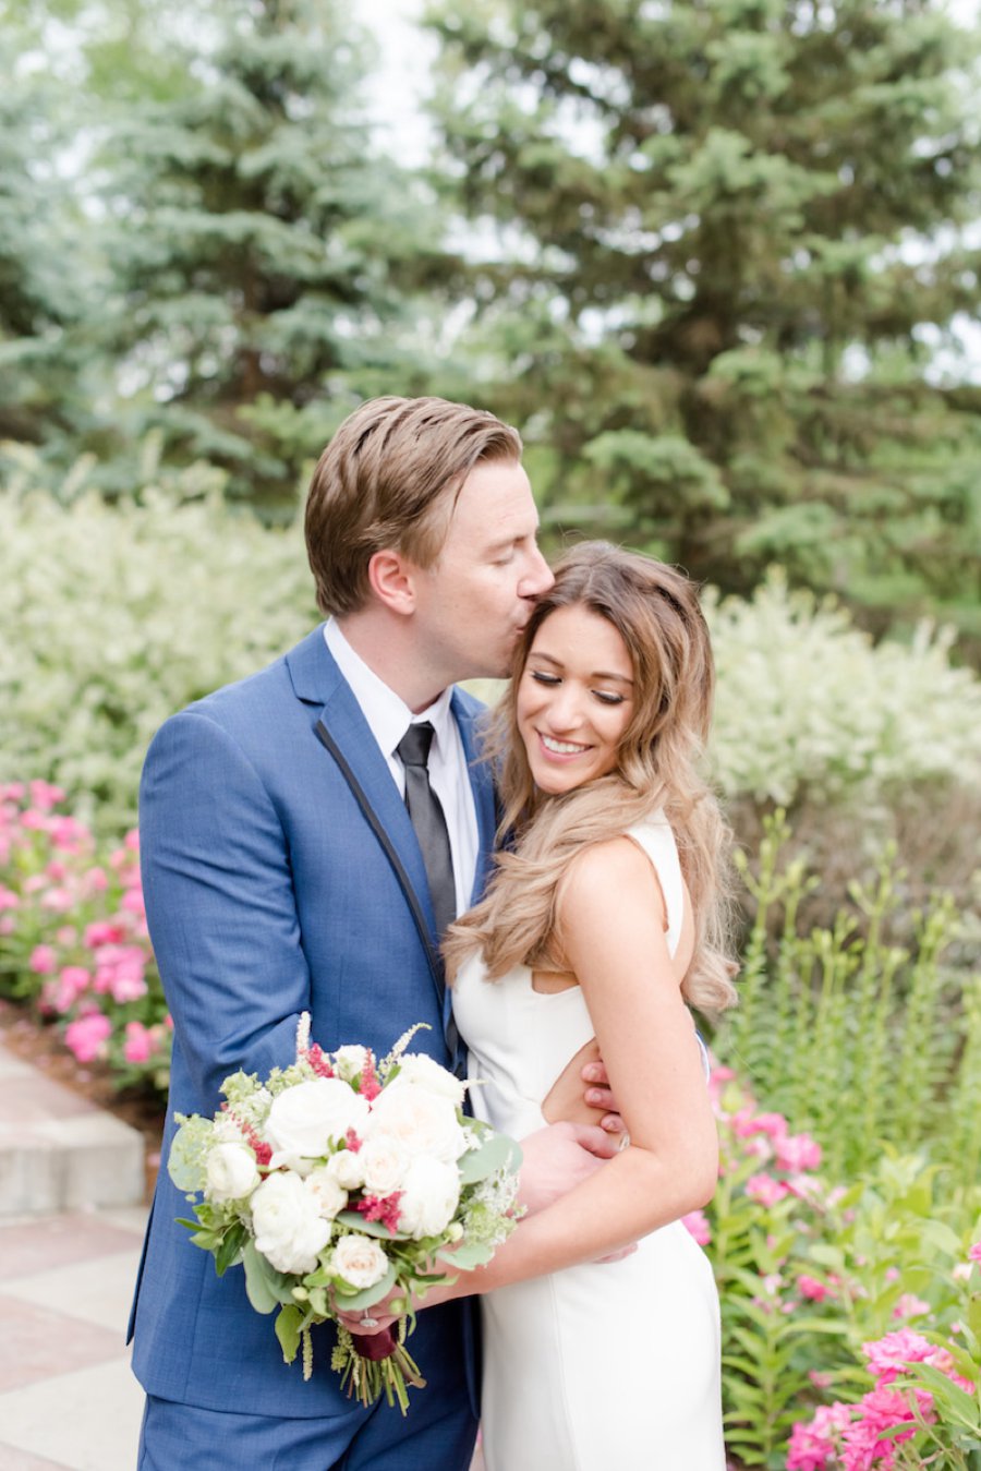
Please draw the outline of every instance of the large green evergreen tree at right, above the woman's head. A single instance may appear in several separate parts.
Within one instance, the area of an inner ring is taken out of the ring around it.
[[[935,363],[981,299],[977,34],[928,0],[431,25],[459,204],[496,231],[479,343],[553,522],[981,634],[981,390]]]

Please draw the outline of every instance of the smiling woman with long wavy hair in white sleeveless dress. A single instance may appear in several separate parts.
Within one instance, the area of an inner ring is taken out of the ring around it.
[[[724,1471],[718,1297],[681,1221],[718,1171],[688,1006],[734,1000],[712,652],[672,568],[587,543],[554,571],[490,738],[509,837],[447,969],[478,1115],[585,1118],[602,1055],[628,1133],[425,1306],[481,1294],[487,1471]]]

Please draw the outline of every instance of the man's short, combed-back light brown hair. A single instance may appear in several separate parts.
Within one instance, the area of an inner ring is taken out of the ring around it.
[[[456,497],[475,465],[518,462],[518,430],[447,399],[371,399],[341,424],[310,481],[306,550],[324,613],[353,613],[368,563],[391,549],[438,559]]]

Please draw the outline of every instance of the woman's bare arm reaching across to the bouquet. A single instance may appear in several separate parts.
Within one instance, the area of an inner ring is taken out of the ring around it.
[[[487,1267],[434,1287],[421,1306],[594,1262],[704,1205],[715,1192],[715,1116],[650,861],[628,838],[587,849],[560,886],[557,918],[629,1144],[521,1221]]]

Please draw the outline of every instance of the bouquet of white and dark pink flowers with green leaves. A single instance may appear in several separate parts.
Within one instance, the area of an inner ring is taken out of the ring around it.
[[[387,1333],[353,1336],[341,1324],[331,1367],[349,1395],[371,1405],[384,1392],[407,1408],[425,1384],[404,1340],[410,1297],[491,1259],[516,1224],[513,1140],[462,1112],[465,1084],[406,1047],[381,1062],[360,1046],[325,1053],[304,1014],[297,1058],[265,1083],[235,1072],[215,1118],[178,1114],[168,1171],[194,1202],[182,1221],[212,1252],[219,1277],[241,1265],[256,1312],[274,1312],[282,1356],[338,1312],[390,1303],[404,1317]],[[196,1200],[196,1196],[203,1199]]]

